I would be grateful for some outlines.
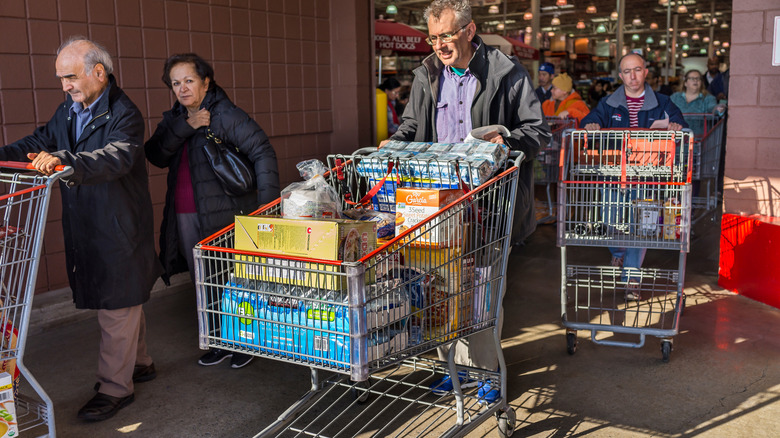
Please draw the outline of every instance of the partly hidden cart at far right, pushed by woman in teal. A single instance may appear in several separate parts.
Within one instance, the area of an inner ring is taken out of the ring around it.
[[[726,118],[716,114],[683,114],[693,131],[693,197],[691,223],[713,212],[720,201],[720,171]]]

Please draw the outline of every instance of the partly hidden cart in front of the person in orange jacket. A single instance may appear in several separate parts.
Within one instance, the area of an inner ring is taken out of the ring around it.
[[[537,215],[537,223],[547,224],[555,221],[555,203],[553,202],[553,196],[551,187],[558,182],[558,158],[561,152],[561,144],[563,141],[563,133],[567,129],[577,129],[577,119],[572,117],[560,118],[555,116],[547,116],[547,124],[550,125],[550,131],[552,138],[547,147],[539,150],[539,155],[536,156],[534,161],[534,183],[536,185],[545,186],[547,192],[547,215]]]

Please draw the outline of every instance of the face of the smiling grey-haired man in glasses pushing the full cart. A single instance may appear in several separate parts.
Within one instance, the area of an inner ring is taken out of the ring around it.
[[[474,52],[471,40],[474,39],[475,33],[476,26],[473,23],[468,23],[465,26],[458,24],[452,9],[445,9],[438,18],[430,17],[428,19],[428,37],[433,43],[436,56],[444,65],[468,68]],[[449,38],[442,38],[442,35],[448,35],[452,40],[444,42]]]

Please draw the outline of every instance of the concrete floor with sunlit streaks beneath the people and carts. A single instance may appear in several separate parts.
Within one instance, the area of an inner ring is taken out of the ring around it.
[[[540,226],[510,257],[503,346],[515,436],[780,434],[780,310],[718,288],[717,226],[696,228],[687,307],[669,363],[652,337],[628,349],[596,345],[581,331],[577,353],[567,354],[555,227]],[[604,248],[582,254],[608,262]],[[646,263],[675,261],[674,254],[651,251]],[[240,370],[227,362],[198,366],[191,286],[155,293],[145,310],[158,378],[137,385],[135,403],[100,423],[76,419],[94,394],[94,314],[29,337],[25,362],[54,400],[59,436],[253,436],[310,386],[308,368],[268,359]],[[496,421],[469,436],[497,436]]]

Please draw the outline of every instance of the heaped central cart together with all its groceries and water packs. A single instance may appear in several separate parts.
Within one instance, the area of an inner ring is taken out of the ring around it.
[[[522,158],[393,141],[300,163],[305,181],[195,247],[200,347],[311,369],[259,436],[464,436],[490,417],[512,434],[496,321]],[[498,370],[432,359],[486,330]]]

